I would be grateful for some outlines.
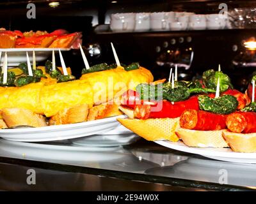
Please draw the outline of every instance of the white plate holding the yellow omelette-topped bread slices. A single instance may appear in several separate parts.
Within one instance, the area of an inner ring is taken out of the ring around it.
[[[42,128],[0,129],[0,137],[20,142],[45,142],[81,138],[116,128],[119,125],[116,120],[118,117],[125,118],[126,116],[118,115],[106,119]]]

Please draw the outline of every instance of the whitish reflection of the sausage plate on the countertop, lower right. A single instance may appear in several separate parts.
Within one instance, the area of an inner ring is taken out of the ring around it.
[[[145,171],[146,174],[159,175],[187,180],[218,183],[226,182],[228,185],[248,186],[255,189],[256,165],[216,161],[205,157],[189,157],[172,166],[152,168]],[[223,173],[227,175],[223,179]]]

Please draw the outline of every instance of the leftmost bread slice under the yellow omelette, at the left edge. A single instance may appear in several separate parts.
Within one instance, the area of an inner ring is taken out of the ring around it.
[[[44,127],[47,126],[45,118],[24,108],[3,108],[2,116],[8,128],[17,126]]]

